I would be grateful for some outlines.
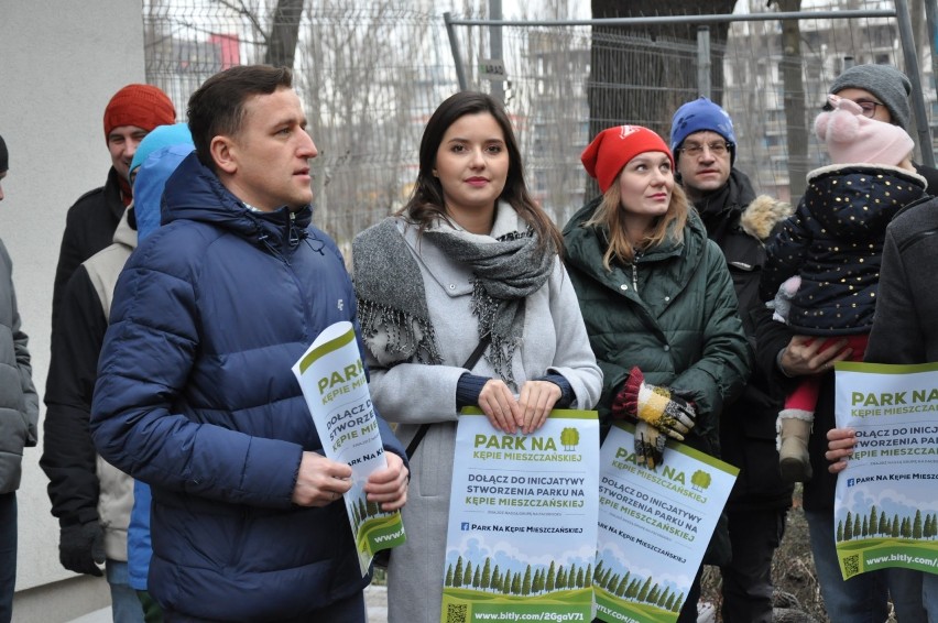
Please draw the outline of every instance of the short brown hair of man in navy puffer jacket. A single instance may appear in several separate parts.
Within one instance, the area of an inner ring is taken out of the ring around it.
[[[244,102],[250,96],[271,95],[293,87],[293,73],[286,67],[239,65],[208,78],[189,98],[186,111],[189,131],[199,162],[216,171],[211,157],[215,136],[234,136],[244,121]]]

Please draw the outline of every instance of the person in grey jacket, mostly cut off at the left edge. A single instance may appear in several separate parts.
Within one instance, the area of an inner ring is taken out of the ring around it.
[[[0,183],[7,176],[7,144],[0,136]],[[39,396],[33,386],[28,338],[20,330],[12,271],[10,254],[0,241],[0,623],[8,623],[13,612],[17,489],[23,448],[36,445],[39,419]]]

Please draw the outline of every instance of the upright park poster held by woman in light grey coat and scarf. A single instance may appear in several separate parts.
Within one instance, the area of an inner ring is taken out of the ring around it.
[[[596,412],[557,409],[503,434],[459,417],[443,623],[591,621],[599,487]]]

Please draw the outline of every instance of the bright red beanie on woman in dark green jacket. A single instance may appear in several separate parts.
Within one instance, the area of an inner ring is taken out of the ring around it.
[[[617,125],[603,130],[587,145],[580,161],[590,177],[599,182],[599,189],[606,193],[619,177],[622,167],[645,152],[667,154],[674,168],[674,156],[664,140],[641,125]]]

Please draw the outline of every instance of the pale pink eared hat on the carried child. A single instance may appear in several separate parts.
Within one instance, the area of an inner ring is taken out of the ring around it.
[[[892,123],[863,116],[855,101],[827,96],[833,107],[815,120],[815,133],[827,143],[833,164],[886,164],[896,166],[915,149],[908,133]]]

